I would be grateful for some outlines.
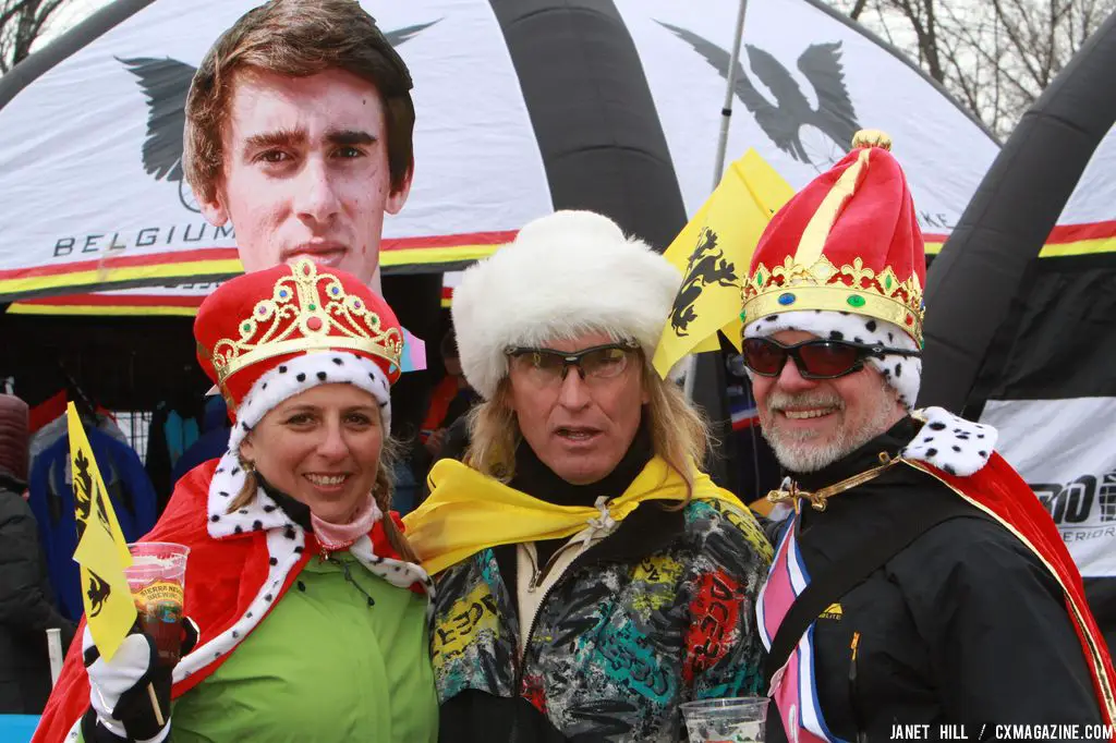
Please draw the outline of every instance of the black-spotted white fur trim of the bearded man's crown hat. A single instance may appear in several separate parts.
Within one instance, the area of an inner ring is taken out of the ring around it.
[[[796,310],[768,315],[749,322],[744,328],[744,338],[767,338],[781,330],[811,332],[826,340],[852,340],[899,350],[918,350],[914,338],[897,325],[856,312],[834,310]],[[869,356],[867,363],[898,393],[903,407],[913,409],[922,384],[922,359],[887,354],[883,358]],[[751,376],[752,373],[749,370],[748,374]]]

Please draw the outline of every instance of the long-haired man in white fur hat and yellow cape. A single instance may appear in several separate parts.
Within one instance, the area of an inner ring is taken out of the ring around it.
[[[758,691],[770,544],[696,469],[705,426],[650,364],[680,282],[608,219],[559,212],[456,288],[484,402],[406,519],[439,573],[443,741],[673,743],[681,703]]]

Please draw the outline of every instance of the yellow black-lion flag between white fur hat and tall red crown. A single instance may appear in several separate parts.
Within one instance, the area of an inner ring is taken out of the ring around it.
[[[740,347],[743,277],[763,229],[792,195],[775,168],[749,149],[663,253],[684,278],[655,349],[661,375],[686,354],[720,348],[718,330]]]

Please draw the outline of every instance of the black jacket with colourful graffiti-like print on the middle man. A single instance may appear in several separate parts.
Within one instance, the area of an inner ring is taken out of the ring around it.
[[[518,695],[560,732],[545,740],[673,742],[683,702],[759,691],[754,601],[771,547],[748,511],[641,504],[550,588],[522,658],[516,549],[484,549],[439,578],[441,740],[496,740],[501,715],[456,703]]]

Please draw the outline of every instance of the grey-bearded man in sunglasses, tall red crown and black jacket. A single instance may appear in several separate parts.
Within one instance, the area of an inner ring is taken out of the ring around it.
[[[995,431],[912,412],[925,258],[889,149],[858,133],[771,220],[743,288],[744,363],[789,471],[757,609],[767,740],[1110,723],[1080,577]]]

